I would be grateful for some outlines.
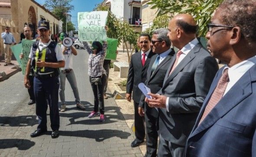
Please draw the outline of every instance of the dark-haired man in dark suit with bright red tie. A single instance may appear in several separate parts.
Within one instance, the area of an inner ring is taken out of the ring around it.
[[[131,62],[128,72],[127,85],[126,85],[126,99],[134,102],[134,125],[135,125],[135,140],[131,143],[131,147],[137,147],[144,142],[145,127],[144,118],[138,114],[138,106],[141,99],[141,90],[138,88],[138,84],[145,82],[147,77],[148,64],[153,55],[150,48],[151,38],[148,34],[141,34],[139,37],[139,45],[141,52],[132,54]]]

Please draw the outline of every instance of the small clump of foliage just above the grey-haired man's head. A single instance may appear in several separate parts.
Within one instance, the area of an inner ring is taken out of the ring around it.
[[[167,28],[170,19],[171,18],[167,14],[157,16],[153,20],[153,25],[150,28],[146,29],[144,32],[152,36],[154,30],[160,29],[160,28]]]

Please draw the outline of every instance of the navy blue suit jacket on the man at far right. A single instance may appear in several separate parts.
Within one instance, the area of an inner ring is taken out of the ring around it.
[[[198,125],[223,68],[216,74],[188,138],[187,157],[256,157],[256,65],[233,85]]]

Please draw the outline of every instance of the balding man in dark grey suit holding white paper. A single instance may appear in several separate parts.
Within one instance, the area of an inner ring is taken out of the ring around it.
[[[158,157],[182,157],[184,147],[203,104],[217,62],[198,42],[196,22],[189,14],[171,19],[168,36],[179,51],[172,58],[161,91],[146,99],[158,108]]]

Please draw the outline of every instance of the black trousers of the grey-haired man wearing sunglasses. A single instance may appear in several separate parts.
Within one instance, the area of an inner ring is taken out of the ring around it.
[[[145,104],[145,127],[147,152],[144,157],[156,157],[158,147],[157,119],[158,111]]]

